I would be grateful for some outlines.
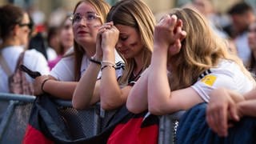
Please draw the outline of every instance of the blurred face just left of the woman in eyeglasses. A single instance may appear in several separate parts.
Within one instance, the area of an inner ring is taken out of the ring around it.
[[[67,18],[60,30],[60,42],[64,47],[64,51],[74,45],[74,34],[72,30],[72,22]]]

